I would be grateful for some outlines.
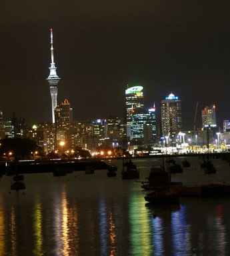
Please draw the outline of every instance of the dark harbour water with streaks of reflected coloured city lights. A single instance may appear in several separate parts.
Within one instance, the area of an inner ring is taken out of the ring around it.
[[[173,175],[185,184],[230,183],[229,164],[203,175],[201,161]],[[177,162],[182,161],[178,159]],[[137,159],[145,180],[159,159]],[[183,197],[179,205],[147,206],[141,183],[106,170],[25,175],[26,189],[0,181],[0,255],[230,255],[230,197]],[[154,213],[154,217],[153,217]]]

